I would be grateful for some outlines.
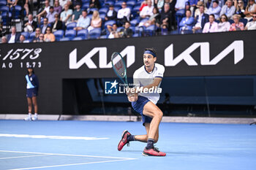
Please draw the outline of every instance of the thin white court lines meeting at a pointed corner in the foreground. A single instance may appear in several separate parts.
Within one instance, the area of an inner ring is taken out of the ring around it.
[[[44,168],[60,167],[60,166],[75,166],[75,165],[85,165],[85,164],[91,164],[91,163],[108,163],[108,162],[129,161],[129,160],[137,159],[137,158],[120,158],[120,157],[94,156],[94,155],[72,155],[72,154],[62,154],[62,153],[21,152],[21,151],[12,151],[12,150],[0,150],[0,152],[18,152],[18,153],[33,153],[33,154],[42,154],[42,155],[66,155],[66,156],[80,156],[80,157],[118,159],[118,160],[110,160],[110,161],[96,161],[96,162],[86,162],[86,163],[70,163],[70,164],[62,164],[62,165],[55,165],[55,166],[35,166],[35,167],[30,167],[30,168],[8,169],[8,170],[44,169]]]

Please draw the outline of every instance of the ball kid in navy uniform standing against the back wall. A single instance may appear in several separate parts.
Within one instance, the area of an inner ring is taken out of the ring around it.
[[[33,66],[28,67],[28,74],[26,74],[26,98],[28,101],[29,116],[24,120],[37,120],[37,95],[38,95],[39,81],[34,74]],[[31,115],[32,103],[34,105],[34,116]]]

